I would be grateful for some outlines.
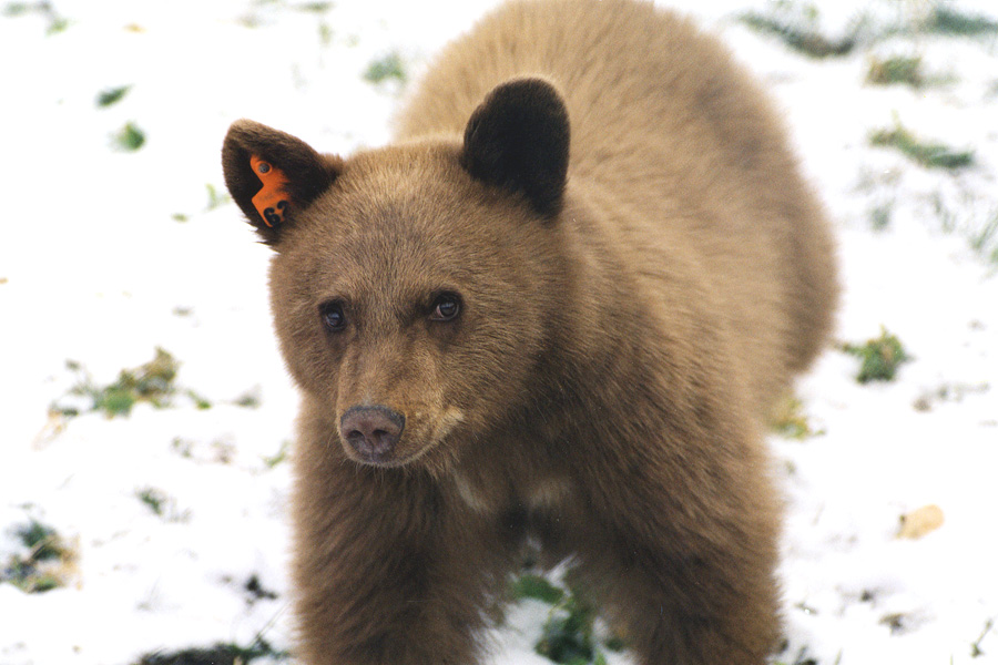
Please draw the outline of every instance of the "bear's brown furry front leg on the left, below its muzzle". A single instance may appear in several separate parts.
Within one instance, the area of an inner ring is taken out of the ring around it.
[[[296,489],[301,662],[475,663],[485,585],[460,515],[418,472],[350,463],[326,471]]]

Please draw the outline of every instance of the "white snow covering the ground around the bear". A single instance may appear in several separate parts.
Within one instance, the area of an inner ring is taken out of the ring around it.
[[[218,198],[222,136],[247,116],[326,152],[384,143],[404,91],[366,81],[369,63],[397,52],[418,76],[492,4],[0,8],[0,577],[30,559],[18,533],[32,521],[69,552],[52,591],[0,582],[0,665],[289,646],[279,456],[296,397],[271,332],[268,252]],[[776,661],[998,663],[998,35],[907,32],[814,60],[733,19],[774,3],[672,4],[717,31],[786,110],[841,243],[838,339],[884,326],[914,358],[896,380],[860,385],[858,360],[829,350],[798,386],[814,433],[771,437],[788,500],[790,644]],[[814,6],[833,35],[860,10],[887,24],[933,7]],[[958,7],[998,18],[994,0]],[[865,84],[870,59],[892,54],[920,55],[936,81]],[[121,86],[116,103],[95,103]],[[974,165],[928,170],[869,146],[897,122],[972,149]],[[145,136],[138,151],[115,147],[128,123]],[[210,409],[181,395],[129,417],[50,415],[82,376],[67,360],[104,386],[156,347]],[[236,403],[247,393],[257,406]],[[900,516],[927,505],[941,526],[897,538]],[[493,663],[549,663],[532,649],[547,612],[515,608]]]

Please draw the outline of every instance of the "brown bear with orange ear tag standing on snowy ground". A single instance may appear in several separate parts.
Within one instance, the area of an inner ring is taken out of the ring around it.
[[[643,665],[766,662],[766,416],[827,342],[836,250],[716,38],[641,0],[512,1],[388,145],[241,120],[222,162],[301,392],[302,663],[480,662],[528,544]]]

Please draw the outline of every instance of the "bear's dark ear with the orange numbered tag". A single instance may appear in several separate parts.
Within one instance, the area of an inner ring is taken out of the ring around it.
[[[232,124],[222,145],[230,194],[268,245],[343,170],[338,157],[251,120]]]

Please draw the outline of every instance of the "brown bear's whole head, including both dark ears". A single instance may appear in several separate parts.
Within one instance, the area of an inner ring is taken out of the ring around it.
[[[529,399],[566,309],[568,158],[538,78],[496,88],[462,140],[349,158],[232,125],[225,181],[274,249],[282,354],[349,459],[444,464]]]

